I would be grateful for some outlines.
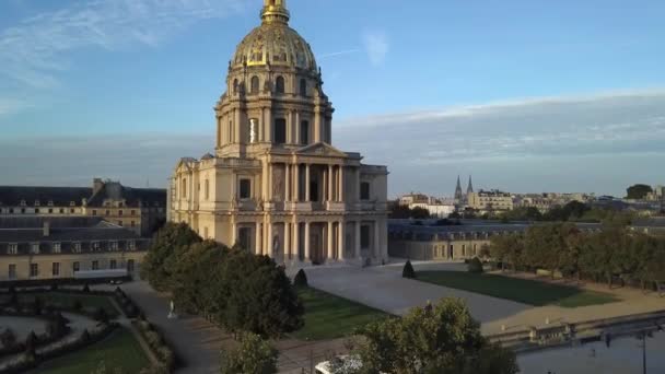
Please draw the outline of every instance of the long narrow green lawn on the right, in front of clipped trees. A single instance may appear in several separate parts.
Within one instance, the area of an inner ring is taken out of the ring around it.
[[[497,274],[476,274],[465,271],[418,271],[417,276],[418,280],[423,282],[536,306],[578,307],[620,301],[610,293]]]

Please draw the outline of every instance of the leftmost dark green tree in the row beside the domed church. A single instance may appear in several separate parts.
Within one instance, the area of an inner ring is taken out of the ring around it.
[[[158,291],[167,291],[171,273],[166,264],[175,248],[200,243],[201,237],[186,223],[166,223],[154,236],[148,254],[141,264],[141,278],[148,279]]]

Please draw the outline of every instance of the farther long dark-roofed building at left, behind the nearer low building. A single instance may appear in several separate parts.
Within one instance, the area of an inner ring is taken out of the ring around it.
[[[166,190],[93,179],[92,187],[0,186],[0,218],[98,217],[150,236],[166,219]]]

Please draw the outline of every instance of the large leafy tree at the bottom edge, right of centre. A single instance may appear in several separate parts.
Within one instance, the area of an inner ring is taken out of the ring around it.
[[[373,322],[359,330],[361,373],[514,374],[515,354],[490,343],[458,299],[412,308],[402,318]]]

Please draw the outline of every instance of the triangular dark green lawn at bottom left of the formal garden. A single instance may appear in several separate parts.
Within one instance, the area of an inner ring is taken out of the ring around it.
[[[36,371],[44,374],[90,374],[101,363],[108,373],[139,373],[150,365],[143,349],[125,328],[114,331],[108,338],[83,350],[48,361]]]

